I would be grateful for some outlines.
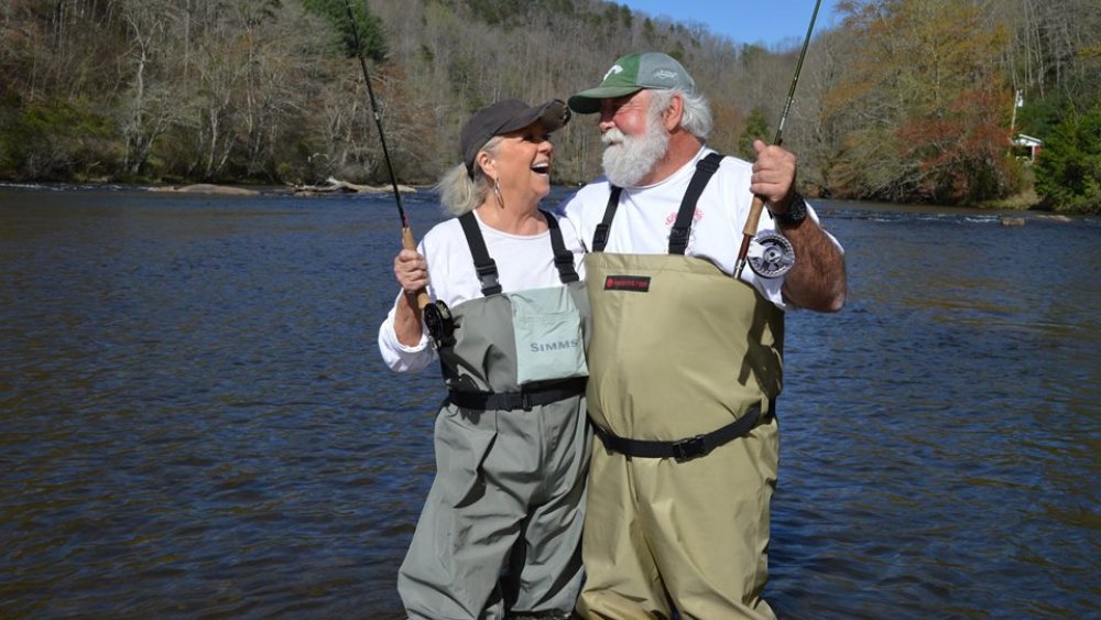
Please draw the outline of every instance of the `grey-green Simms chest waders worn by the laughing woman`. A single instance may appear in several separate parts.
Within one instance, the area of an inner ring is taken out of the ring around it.
[[[397,577],[411,618],[568,612],[580,589],[591,432],[584,366],[563,353],[573,347],[584,365],[590,313],[558,222],[544,216],[563,286],[517,292],[502,292],[473,214],[459,218],[483,296],[450,308],[438,350],[448,395],[436,477]],[[537,337],[564,326],[571,338]],[[558,361],[533,367],[533,349]]]

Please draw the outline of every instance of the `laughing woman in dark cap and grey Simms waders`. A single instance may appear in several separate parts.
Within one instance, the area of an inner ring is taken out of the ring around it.
[[[580,243],[538,209],[549,134],[568,119],[558,100],[476,112],[464,162],[440,182],[459,217],[394,260],[402,293],[379,348],[399,372],[438,357],[448,389],[436,478],[397,577],[411,618],[566,618],[580,587],[589,306]],[[422,290],[429,312],[446,305],[450,328],[432,320],[426,333]]]

